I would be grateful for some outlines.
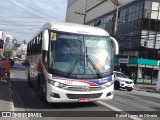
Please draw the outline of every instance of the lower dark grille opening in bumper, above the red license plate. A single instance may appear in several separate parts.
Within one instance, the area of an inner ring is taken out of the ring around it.
[[[96,94],[66,94],[69,99],[79,99],[79,98],[99,98],[102,93]]]

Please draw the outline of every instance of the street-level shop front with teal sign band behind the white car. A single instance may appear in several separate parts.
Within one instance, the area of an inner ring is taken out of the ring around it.
[[[156,85],[160,65],[158,60],[143,58],[116,58],[115,70],[125,73],[135,83]]]

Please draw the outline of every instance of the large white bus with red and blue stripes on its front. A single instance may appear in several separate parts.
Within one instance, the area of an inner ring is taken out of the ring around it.
[[[112,99],[118,49],[103,29],[47,23],[28,43],[28,81],[48,102]]]

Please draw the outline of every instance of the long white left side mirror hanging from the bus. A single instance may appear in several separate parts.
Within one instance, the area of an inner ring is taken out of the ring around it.
[[[48,30],[43,31],[43,39],[42,39],[42,50],[48,50],[49,44],[49,33]]]

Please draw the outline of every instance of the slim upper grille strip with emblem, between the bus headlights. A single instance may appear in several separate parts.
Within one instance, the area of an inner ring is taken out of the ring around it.
[[[67,86],[64,88],[65,90],[69,91],[99,91],[103,90],[103,87],[100,86],[94,86],[94,87],[87,87],[87,89],[84,88],[84,86]]]

